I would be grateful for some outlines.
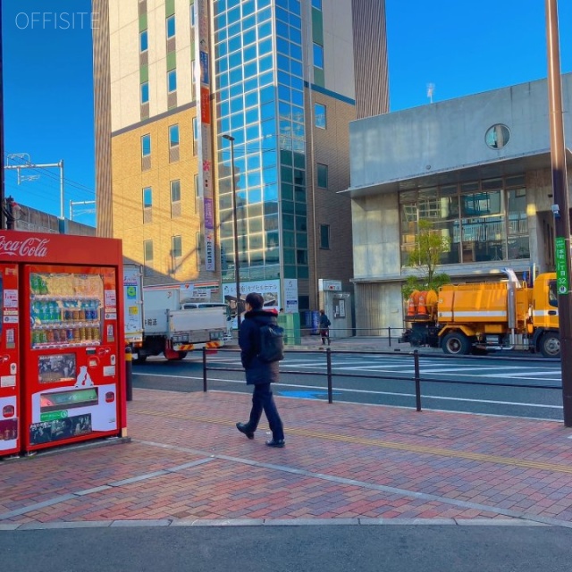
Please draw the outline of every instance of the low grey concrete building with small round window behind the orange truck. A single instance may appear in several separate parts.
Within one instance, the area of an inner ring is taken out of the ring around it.
[[[572,110],[572,74],[562,100]],[[439,269],[453,282],[498,279],[501,267],[554,269],[545,80],[352,122],[349,138],[358,332],[403,326],[421,219],[449,239]]]

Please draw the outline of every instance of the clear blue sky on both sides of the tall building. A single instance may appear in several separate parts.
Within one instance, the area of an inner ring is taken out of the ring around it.
[[[85,14],[91,2],[1,4],[5,152],[28,153],[34,164],[63,160],[69,216],[70,200],[95,198],[91,29]],[[391,111],[428,104],[430,83],[438,102],[546,77],[543,0],[386,0],[386,9]],[[572,0],[559,0],[559,31],[561,67],[569,72]],[[22,174],[40,177],[18,185],[15,172],[6,172],[6,195],[59,214],[59,171]],[[93,224],[93,214],[80,214],[89,207],[75,206],[74,218]]]

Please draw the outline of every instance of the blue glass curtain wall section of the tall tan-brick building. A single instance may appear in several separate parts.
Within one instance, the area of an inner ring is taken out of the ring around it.
[[[299,0],[216,0],[223,282],[234,280],[234,138],[240,280],[308,278],[306,116]],[[281,260],[282,253],[282,260]]]

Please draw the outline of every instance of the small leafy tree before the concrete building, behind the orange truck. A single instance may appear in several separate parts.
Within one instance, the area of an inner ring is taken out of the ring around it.
[[[415,247],[409,253],[406,263],[406,266],[415,268],[420,275],[408,277],[402,288],[404,299],[408,299],[413,290],[438,290],[440,286],[450,282],[448,274],[437,272],[442,254],[449,250],[449,237],[443,236],[440,230],[433,229],[430,221],[421,219],[418,223]]]

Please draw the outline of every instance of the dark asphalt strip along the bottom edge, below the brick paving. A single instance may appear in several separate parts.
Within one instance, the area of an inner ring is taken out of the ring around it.
[[[568,572],[551,526],[169,526],[0,532],[10,572]]]

